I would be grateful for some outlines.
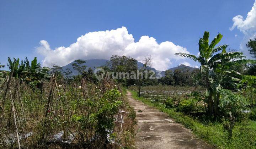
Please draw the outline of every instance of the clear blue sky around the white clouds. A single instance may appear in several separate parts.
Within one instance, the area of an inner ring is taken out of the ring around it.
[[[50,50],[53,51],[57,47],[69,47],[77,41],[78,37],[86,33],[115,30],[121,27],[126,27],[128,33],[132,34],[134,42],[148,35],[159,44],[170,41],[186,48],[192,54],[198,53],[198,39],[202,37],[204,31],[210,32],[211,39],[218,33],[223,34],[220,44],[228,44],[229,48],[239,49],[245,33],[241,32],[241,28],[233,31],[229,28],[233,26],[233,17],[241,15],[246,18],[254,2],[254,0],[1,0],[0,63],[5,65],[7,57],[24,59],[25,56],[30,60],[37,56],[43,63],[43,60],[47,61],[45,57],[49,55],[38,52],[36,47],[42,46],[39,44],[41,40],[46,40]],[[111,53],[111,50],[109,52]],[[116,54],[115,52],[113,51],[112,54]],[[126,52],[127,56],[139,60],[143,56],[143,54],[129,54],[131,53]],[[150,50],[148,54],[151,54]],[[54,56],[59,57],[58,54]],[[188,62],[191,66],[198,65],[190,60],[177,60],[172,57],[174,56],[170,56],[169,59],[171,62],[167,60],[168,65],[159,69],[177,66],[182,61]],[[76,58],[83,57],[74,55],[60,65]],[[94,57],[85,56],[84,58]],[[66,57],[58,61],[64,61],[64,59]],[[162,65],[161,57],[156,59],[155,65]]]

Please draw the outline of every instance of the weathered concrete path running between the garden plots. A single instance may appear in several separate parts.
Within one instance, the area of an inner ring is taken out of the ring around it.
[[[202,140],[194,138],[189,129],[174,122],[167,114],[145,105],[127,92],[130,106],[136,111],[135,146],[139,149],[212,148]],[[141,111],[141,112],[139,112]]]

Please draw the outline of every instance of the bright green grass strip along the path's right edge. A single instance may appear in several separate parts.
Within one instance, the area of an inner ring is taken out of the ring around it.
[[[200,122],[196,118],[176,112],[174,109],[166,108],[163,104],[152,103],[143,97],[138,97],[135,91],[131,91],[134,99],[143,103],[154,106],[162,112],[167,113],[171,118],[183,126],[193,131],[196,137],[201,138],[218,148],[256,148],[256,122],[245,119],[237,122],[233,129],[233,137],[230,138],[228,132],[223,129],[222,123],[218,121]]]

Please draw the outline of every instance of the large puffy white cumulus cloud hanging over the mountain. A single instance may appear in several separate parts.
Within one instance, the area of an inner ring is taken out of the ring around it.
[[[151,55],[153,67],[166,70],[172,62],[183,59],[175,56],[175,53],[189,53],[186,48],[169,41],[159,44],[153,37],[142,36],[138,42],[134,42],[133,35],[128,33],[126,27],[87,33],[69,47],[51,49],[46,40],[41,40],[39,44],[36,50],[44,56],[43,66],[65,66],[77,59],[110,59],[113,54],[131,56],[142,62],[145,56]]]

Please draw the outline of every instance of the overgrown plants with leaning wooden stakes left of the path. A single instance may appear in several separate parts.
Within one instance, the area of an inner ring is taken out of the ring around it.
[[[0,148],[132,148],[135,111],[113,80],[72,78],[62,68],[9,58],[1,71]]]

